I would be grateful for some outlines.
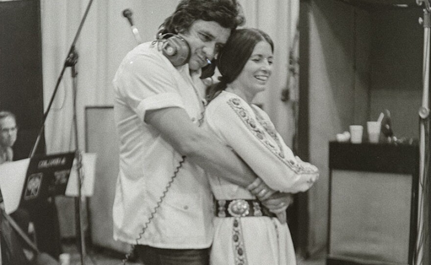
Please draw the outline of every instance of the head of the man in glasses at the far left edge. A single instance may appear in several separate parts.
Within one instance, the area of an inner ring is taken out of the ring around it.
[[[9,111],[0,111],[0,164],[13,159],[12,146],[17,140],[15,115]]]

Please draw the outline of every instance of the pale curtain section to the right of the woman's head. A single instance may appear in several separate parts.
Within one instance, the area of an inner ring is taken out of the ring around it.
[[[274,41],[274,70],[269,89],[255,100],[271,117],[289,147],[295,132],[295,103],[298,99],[298,79],[289,69],[289,52],[298,55],[295,34],[299,18],[299,0],[240,0],[244,7],[246,27],[257,27]],[[290,75],[290,78],[289,78]],[[289,84],[287,84],[289,83]],[[289,102],[281,101],[284,88],[289,88]]]

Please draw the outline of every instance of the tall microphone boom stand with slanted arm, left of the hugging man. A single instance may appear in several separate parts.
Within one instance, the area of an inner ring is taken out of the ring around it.
[[[76,31],[76,35],[73,39],[71,48],[68,53],[68,57],[66,58],[63,68],[60,72],[60,75],[57,79],[57,84],[55,85],[54,91],[52,93],[52,96],[49,100],[48,108],[44,113],[44,117],[42,119],[42,123],[40,125],[40,129],[36,138],[36,141],[31,149],[29,157],[32,158],[36,152],[37,146],[39,145],[40,137],[42,135],[42,132],[45,127],[45,121],[47,120],[47,116],[49,113],[49,110],[51,109],[52,103],[54,101],[55,95],[57,93],[57,90],[60,86],[61,80],[63,79],[63,74],[66,71],[67,67],[72,67],[72,89],[73,89],[73,127],[74,127],[74,133],[75,133],[75,159],[76,159],[76,169],[77,169],[77,189],[78,189],[78,197],[75,198],[75,222],[76,222],[76,237],[77,237],[77,245],[81,256],[81,265],[84,265],[84,255],[85,255],[85,242],[84,242],[84,231],[82,230],[82,213],[81,213],[81,186],[83,183],[83,174],[82,174],[82,156],[79,151],[79,145],[78,145],[78,128],[77,128],[77,121],[76,121],[76,68],[75,65],[78,61],[78,54],[76,53],[75,44],[78,40],[79,34],[81,33],[82,26],[84,25],[84,22],[87,18],[88,12],[90,11],[91,4],[93,3],[93,0],[89,0],[87,8],[85,10],[84,16],[81,19],[81,22],[79,24],[78,30]]]

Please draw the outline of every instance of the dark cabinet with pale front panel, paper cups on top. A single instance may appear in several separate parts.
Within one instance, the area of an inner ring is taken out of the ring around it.
[[[413,264],[418,150],[330,143],[327,265]]]

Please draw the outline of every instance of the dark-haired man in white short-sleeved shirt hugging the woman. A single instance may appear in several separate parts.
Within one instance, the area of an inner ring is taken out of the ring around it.
[[[136,245],[145,265],[208,264],[214,209],[203,169],[244,187],[261,183],[251,186],[259,186],[253,192],[260,199],[273,193],[199,128],[201,68],[242,22],[236,0],[182,0],[159,38],[166,33],[183,38],[190,46],[185,64],[165,56],[160,39],[129,52],[114,78],[120,135],[114,239]],[[273,200],[275,208],[285,204]]]

